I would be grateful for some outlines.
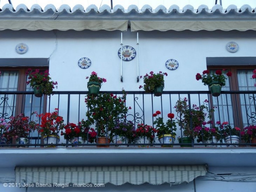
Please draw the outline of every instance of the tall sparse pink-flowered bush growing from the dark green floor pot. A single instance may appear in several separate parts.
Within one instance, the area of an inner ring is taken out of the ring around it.
[[[211,123],[211,113],[214,112],[214,108],[209,108],[207,99],[200,106],[193,104],[189,109],[188,99],[185,97],[177,100],[174,108],[177,112],[176,119],[180,129],[183,130],[183,135],[190,138],[196,138],[198,135],[197,131],[194,130],[195,127],[200,127],[205,122],[207,122],[206,124]]]

